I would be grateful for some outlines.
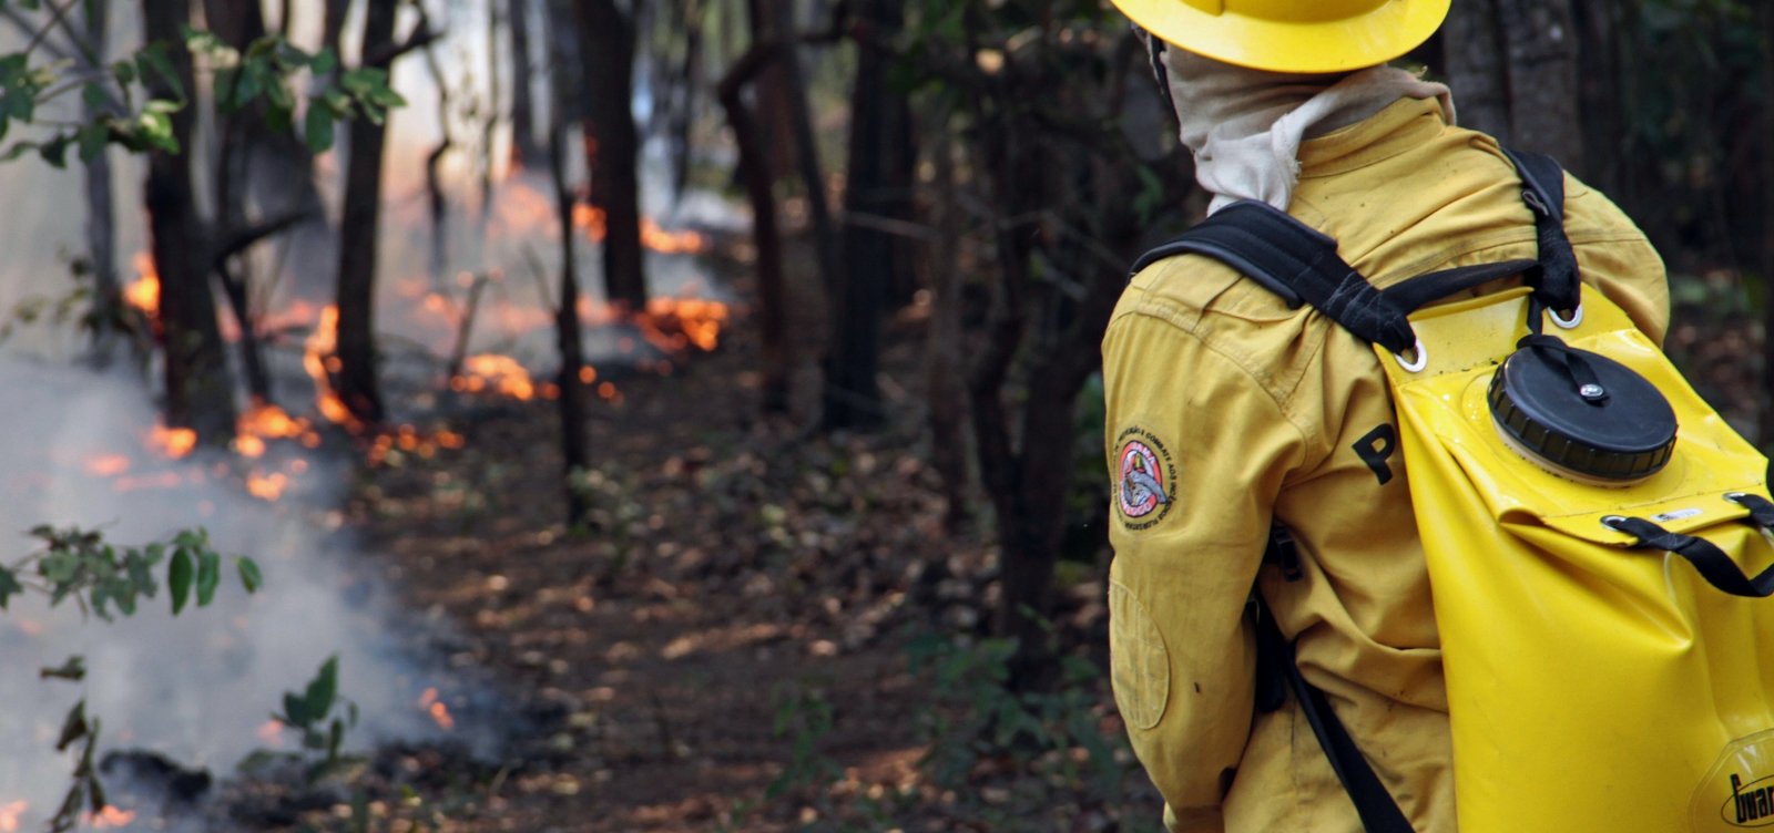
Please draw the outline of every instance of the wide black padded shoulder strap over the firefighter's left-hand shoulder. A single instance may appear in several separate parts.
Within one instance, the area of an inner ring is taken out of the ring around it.
[[[1355,337],[1393,353],[1416,346],[1407,312],[1368,284],[1336,252],[1336,241],[1267,202],[1240,200],[1134,264],[1181,253],[1206,255],[1238,269],[1288,301],[1309,303]]]

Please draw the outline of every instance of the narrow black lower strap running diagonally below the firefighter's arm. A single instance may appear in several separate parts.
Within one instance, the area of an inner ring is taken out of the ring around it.
[[[1281,526],[1276,526],[1281,530]],[[1283,530],[1284,533],[1284,530]],[[1270,537],[1270,555],[1276,555],[1277,546],[1291,548],[1293,542]],[[1286,558],[1286,555],[1281,555]],[[1261,700],[1263,686],[1261,682],[1283,679],[1286,686],[1293,689],[1293,698],[1300,704],[1300,712],[1306,714],[1306,721],[1313,727],[1313,734],[1318,736],[1318,746],[1325,750],[1325,757],[1330,759],[1330,769],[1336,778],[1343,782],[1343,790],[1348,792],[1350,801],[1355,803],[1355,815],[1361,817],[1361,826],[1368,833],[1412,833],[1410,821],[1405,819],[1405,812],[1398,808],[1398,801],[1393,799],[1391,792],[1385,792],[1385,785],[1380,783],[1380,776],[1373,775],[1373,767],[1368,759],[1362,757],[1361,746],[1355,746],[1355,739],[1348,736],[1343,728],[1343,721],[1338,720],[1336,712],[1330,711],[1330,702],[1325,693],[1320,691],[1306,677],[1300,675],[1300,666],[1293,663],[1293,645],[1281,636],[1281,629],[1276,627],[1276,617],[1268,613],[1268,604],[1263,603],[1261,594],[1251,594],[1252,604],[1256,608],[1256,656],[1258,656],[1258,691]],[[1276,697],[1274,707],[1279,707],[1279,695]],[[1274,709],[1267,709],[1274,711]]]

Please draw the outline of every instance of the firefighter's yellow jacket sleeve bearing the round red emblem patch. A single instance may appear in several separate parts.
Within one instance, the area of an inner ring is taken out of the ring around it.
[[[1245,601],[1302,432],[1238,360],[1164,315],[1111,323],[1103,392],[1116,704],[1167,826],[1219,831],[1252,718]]]

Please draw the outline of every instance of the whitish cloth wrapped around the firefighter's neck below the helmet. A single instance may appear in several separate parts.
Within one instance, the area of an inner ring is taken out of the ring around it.
[[[1398,99],[1435,97],[1453,122],[1453,94],[1403,69],[1378,66],[1345,76],[1265,73],[1167,48],[1171,101],[1196,181],[1213,195],[1208,213],[1233,200],[1283,211],[1300,181],[1300,142],[1346,128]]]

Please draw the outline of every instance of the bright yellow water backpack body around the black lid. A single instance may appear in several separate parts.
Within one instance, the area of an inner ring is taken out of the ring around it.
[[[1584,289],[1572,347],[1664,392],[1675,455],[1630,486],[1582,486],[1497,440],[1485,393],[1527,333],[1526,289],[1425,310],[1426,367],[1391,356],[1410,493],[1446,649],[1460,826],[1515,833],[1724,833],[1774,822],[1774,603],[1685,560],[1623,551],[1611,514],[1701,535],[1754,574],[1774,546],[1726,494],[1767,494],[1737,436],[1605,298]],[[1742,741],[1742,743],[1740,743]],[[1728,750],[1728,746],[1739,748]],[[1747,751],[1747,755],[1746,755]],[[1735,782],[1733,782],[1735,778]],[[1739,803],[1751,796],[1746,808]]]

